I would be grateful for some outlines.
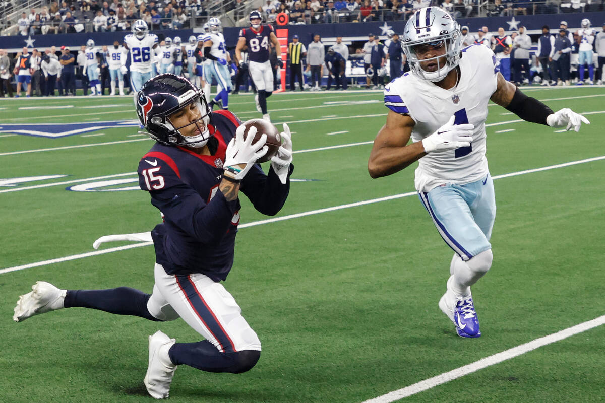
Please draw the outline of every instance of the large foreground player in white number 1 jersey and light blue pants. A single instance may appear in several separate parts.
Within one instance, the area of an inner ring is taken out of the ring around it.
[[[411,71],[385,87],[390,111],[374,140],[368,171],[378,178],[419,161],[416,190],[455,252],[439,308],[460,337],[479,337],[470,286],[492,263],[495,199],[485,158],[489,100],[551,127],[578,131],[589,121],[567,108],[553,113],[523,94],[499,73],[491,49],[462,48],[462,40],[459,24],[441,8],[421,8],[408,19],[402,46]]]

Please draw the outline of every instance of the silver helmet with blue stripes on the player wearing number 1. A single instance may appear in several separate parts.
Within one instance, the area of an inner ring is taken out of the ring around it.
[[[404,40],[401,44],[405,56],[410,63],[411,71],[422,79],[437,82],[455,68],[460,62],[463,36],[460,25],[446,11],[439,7],[424,7],[416,11],[408,19],[404,28]],[[420,59],[417,47],[445,47],[445,54]],[[440,60],[445,57],[445,63]],[[435,71],[426,71],[420,66],[420,61],[434,60],[437,62]]]

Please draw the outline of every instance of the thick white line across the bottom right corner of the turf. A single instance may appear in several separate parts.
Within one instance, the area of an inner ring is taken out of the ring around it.
[[[502,363],[502,361],[528,353],[539,347],[546,346],[547,344],[555,343],[555,341],[561,341],[567,337],[577,335],[578,333],[586,332],[586,330],[601,326],[604,323],[605,315],[572,327],[567,327],[567,329],[560,330],[557,333],[553,333],[545,337],[537,338],[529,341],[528,343],[521,344],[520,346],[512,347],[512,349],[490,355],[480,359],[479,361],[475,361],[474,363],[467,364],[449,372],[444,372],[441,375],[433,376],[433,378],[416,382],[415,384],[405,388],[394,390],[386,395],[378,396],[378,398],[366,400],[363,403],[391,403],[399,399],[404,399],[408,396],[416,395],[416,393],[424,392],[425,390],[436,387],[437,385],[445,384],[446,382],[453,381],[454,379],[462,378],[462,376],[468,375],[469,373],[477,372],[480,369]]]

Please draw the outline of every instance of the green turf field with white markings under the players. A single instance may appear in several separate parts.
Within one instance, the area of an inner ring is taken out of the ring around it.
[[[561,132],[511,123],[515,115],[489,106],[487,153],[498,212],[494,263],[473,287],[479,339],[457,337],[437,308],[453,253],[417,196],[355,205],[414,192],[416,164],[387,178],[367,173],[371,141],[387,112],[382,93],[269,98],[273,123],[287,121],[295,132],[292,178],[314,179],[292,183],[277,217],[313,213],[246,227],[267,217],[242,201],[225,286],[261,338],[261,359],[241,375],[181,366],[170,400],[361,403],[603,315],[605,160],[552,166],[605,156],[605,89],[528,94],[555,111],[586,113],[592,124]],[[242,120],[260,117],[251,94],[232,96],[230,108]],[[0,100],[0,126],[134,119],[131,97]],[[0,178],[56,175],[18,185],[0,179],[0,402],[149,402],[142,382],[148,335],[162,330],[177,341],[199,340],[180,320],[156,323],[87,309],[11,319],[18,296],[36,280],[151,292],[149,246],[31,265],[92,252],[99,236],[148,231],[159,222],[145,192],[66,190],[135,179],[152,146],[137,131],[104,128],[62,138],[0,133]],[[315,150],[323,147],[331,148]],[[552,168],[533,171],[543,167]],[[519,174],[500,177],[509,173]],[[40,187],[45,184],[55,185]],[[123,186],[136,183],[117,187]],[[336,206],[345,207],[317,211]],[[3,270],[23,265],[33,267]],[[603,401],[604,337],[605,328],[595,327],[404,401]]]

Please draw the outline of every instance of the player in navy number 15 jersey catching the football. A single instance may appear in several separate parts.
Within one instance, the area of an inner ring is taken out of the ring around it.
[[[37,282],[22,295],[13,320],[60,308],[84,307],[152,321],[183,318],[206,340],[175,343],[158,331],[149,337],[144,379],[149,395],[168,398],[180,364],[241,373],[260,357],[257,334],[221,285],[231,270],[240,221],[240,192],[261,213],[280,211],[293,171],[290,130],[265,175],[255,161],[267,152],[266,135],[252,143],[251,127],[229,111],[212,112],[203,91],[184,77],[160,74],[137,94],[137,115],[157,141],[139,162],[139,185],[163,222],[151,231],[155,247],[152,294],[132,288],[67,291]]]

